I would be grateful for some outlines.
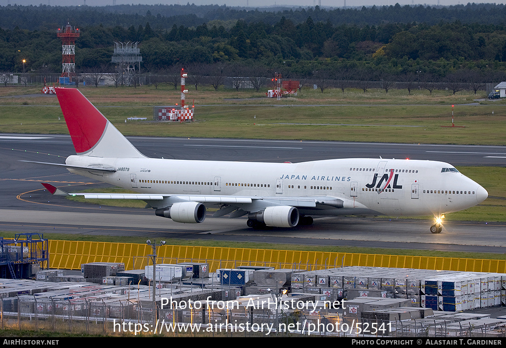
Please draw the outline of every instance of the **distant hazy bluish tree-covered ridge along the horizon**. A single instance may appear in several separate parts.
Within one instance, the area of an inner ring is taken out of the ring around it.
[[[16,26],[27,30],[54,30],[72,19],[78,27],[106,27],[116,25],[129,27],[150,22],[156,30],[198,26],[214,20],[246,23],[264,22],[274,25],[284,17],[299,24],[308,17],[315,22],[329,22],[332,25],[357,24],[378,25],[382,23],[427,23],[460,21],[461,23],[503,24],[506,5],[471,4],[456,6],[372,6],[344,8],[302,8],[302,7],[228,7],[219,5],[116,5],[116,6],[0,6],[0,27],[14,29]]]

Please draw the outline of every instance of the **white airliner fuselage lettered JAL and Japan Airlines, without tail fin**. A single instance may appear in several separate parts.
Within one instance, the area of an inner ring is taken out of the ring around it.
[[[300,209],[308,215],[440,215],[475,206],[487,197],[478,183],[437,161],[256,163],[70,156],[66,164],[114,168],[115,173],[100,175],[71,171],[139,193],[253,196],[271,201],[315,196],[344,201],[340,209]]]

